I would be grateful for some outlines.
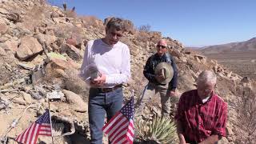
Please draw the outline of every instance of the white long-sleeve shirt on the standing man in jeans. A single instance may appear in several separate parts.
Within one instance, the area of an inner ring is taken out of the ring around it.
[[[101,74],[106,74],[102,88],[126,83],[130,78],[130,50],[122,42],[109,46],[102,39],[89,41],[81,66],[82,78],[88,78],[90,66],[96,66]]]

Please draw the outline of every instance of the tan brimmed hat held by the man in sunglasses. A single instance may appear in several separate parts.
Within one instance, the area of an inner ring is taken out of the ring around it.
[[[174,69],[172,66],[170,66],[167,62],[160,62],[156,66],[154,70],[155,75],[162,74],[164,76],[164,79],[156,78],[157,81],[161,84],[167,84],[171,81],[171,79],[174,77]]]

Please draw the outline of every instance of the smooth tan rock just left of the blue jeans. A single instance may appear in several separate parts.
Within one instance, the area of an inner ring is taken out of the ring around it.
[[[63,90],[63,93],[66,96],[66,101],[70,102],[73,105],[75,111],[78,112],[86,112],[87,104],[83,102],[82,98],[78,94],[74,94],[74,92],[69,90]]]

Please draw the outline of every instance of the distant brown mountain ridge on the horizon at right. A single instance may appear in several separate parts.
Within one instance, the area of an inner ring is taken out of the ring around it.
[[[201,51],[202,54],[256,51],[256,37],[245,42],[231,42],[223,45],[204,46],[199,48],[199,51]]]

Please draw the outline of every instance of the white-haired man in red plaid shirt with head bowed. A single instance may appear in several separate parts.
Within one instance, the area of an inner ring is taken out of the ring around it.
[[[216,80],[214,72],[202,71],[198,89],[182,94],[175,114],[181,144],[217,143],[226,136],[227,104],[214,93]]]

